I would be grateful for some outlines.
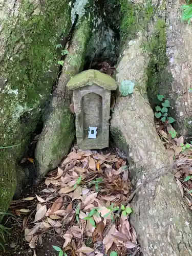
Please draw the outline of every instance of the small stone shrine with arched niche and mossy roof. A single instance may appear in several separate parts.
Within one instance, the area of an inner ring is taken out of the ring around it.
[[[109,146],[111,91],[116,81],[98,70],[86,70],[71,78],[67,87],[73,90],[77,145],[82,149]]]

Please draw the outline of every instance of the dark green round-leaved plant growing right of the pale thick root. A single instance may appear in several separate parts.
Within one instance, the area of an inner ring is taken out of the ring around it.
[[[168,116],[168,108],[170,107],[170,103],[167,99],[164,99],[163,95],[157,95],[158,100],[160,101],[160,106],[155,107],[155,117],[160,118],[162,122],[167,120],[168,123],[175,122],[173,117]]]

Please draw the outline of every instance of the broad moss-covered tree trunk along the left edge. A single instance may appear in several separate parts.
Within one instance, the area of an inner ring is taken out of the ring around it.
[[[71,29],[69,0],[1,1],[0,209],[20,177],[19,162],[57,77],[60,38]],[[16,175],[17,174],[17,175]]]

